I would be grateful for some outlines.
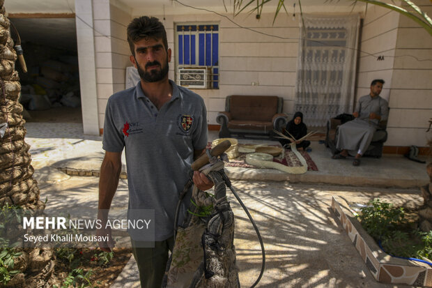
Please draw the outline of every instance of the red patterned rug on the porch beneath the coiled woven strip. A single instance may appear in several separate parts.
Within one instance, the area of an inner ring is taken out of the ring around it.
[[[242,146],[247,146],[247,144],[244,144]],[[268,146],[277,146],[277,145],[268,145]],[[208,142],[207,149],[211,148],[211,143]],[[304,160],[307,162],[307,170],[308,171],[318,171],[318,167],[316,167],[316,164],[314,160],[311,159],[311,156],[306,151],[299,151],[300,154],[302,154]],[[254,165],[249,165],[247,162],[245,162],[247,153],[241,153],[239,152],[239,156],[236,159],[230,159],[229,162],[225,162],[226,167],[244,167],[244,168],[256,168],[259,169],[260,167],[256,167]],[[277,157],[273,158],[273,162],[278,162],[283,165],[286,165],[288,167],[300,167],[302,163],[300,160],[295,156],[293,151],[291,149],[285,150],[285,158],[279,159]]]

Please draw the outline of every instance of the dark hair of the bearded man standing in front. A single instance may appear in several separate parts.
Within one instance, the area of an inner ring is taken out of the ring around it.
[[[168,50],[167,31],[156,17],[141,16],[134,18],[128,25],[128,43],[130,52],[135,56],[134,43],[141,39],[162,39],[165,51]]]

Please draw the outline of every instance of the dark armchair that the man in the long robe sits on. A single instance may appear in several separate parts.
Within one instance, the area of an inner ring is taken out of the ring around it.
[[[327,121],[327,132],[325,133],[325,146],[330,148],[333,155],[339,153],[336,149],[337,132],[339,125],[342,124],[340,119],[330,119]],[[387,121],[380,121],[378,124],[379,128],[373,133],[373,138],[371,144],[363,156],[372,156],[375,158],[380,158],[383,156],[383,145],[387,141]]]

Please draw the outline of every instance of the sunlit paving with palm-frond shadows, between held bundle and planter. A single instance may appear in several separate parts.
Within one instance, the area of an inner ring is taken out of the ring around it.
[[[407,203],[417,201],[415,191],[327,190],[319,185],[250,181],[236,181],[234,185],[265,245],[265,273],[257,287],[394,287],[373,279],[344,229],[329,212],[331,196],[342,195],[355,202],[379,196]],[[241,206],[231,194],[229,200],[236,215],[234,244],[240,283],[249,287],[259,275],[261,248]]]

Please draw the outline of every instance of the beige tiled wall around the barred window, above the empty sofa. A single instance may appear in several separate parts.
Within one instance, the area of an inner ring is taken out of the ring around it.
[[[232,18],[232,15],[227,15]],[[217,15],[167,15],[164,25],[168,44],[174,47],[174,24],[177,22],[218,22],[219,30],[219,89],[194,89],[208,109],[208,124],[217,124],[216,115],[224,111],[225,97],[232,94],[268,95],[284,98],[284,112],[293,114],[295,71],[297,68],[299,23],[280,14],[272,26],[273,14],[241,15],[234,20],[241,26],[290,38],[280,39],[242,29],[225,17]],[[155,15],[160,20],[161,15]],[[174,53],[173,53],[174,56]],[[173,57],[169,77],[174,79]],[[252,82],[259,85],[252,85]]]

